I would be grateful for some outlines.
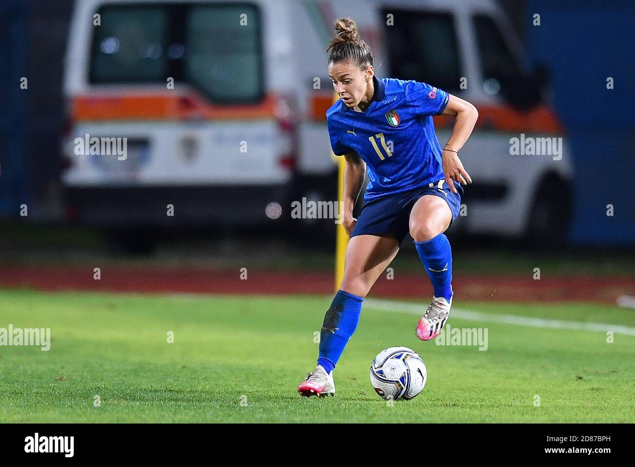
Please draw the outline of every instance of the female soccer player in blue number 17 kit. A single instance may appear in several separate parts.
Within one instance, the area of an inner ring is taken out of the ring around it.
[[[298,386],[303,396],[335,395],[333,369],[355,331],[364,297],[410,233],[434,295],[417,337],[434,339],[452,303],[452,256],[444,232],[456,219],[463,185],[471,183],[458,151],[472,133],[474,105],[417,81],[375,78],[373,55],[350,18],[335,22],[326,51],[328,74],[340,99],[326,112],[333,152],[343,156],[342,223],[351,236],[344,278],[326,311],[316,369]],[[433,115],[455,116],[443,151]],[[352,217],[368,166],[370,182],[359,219]]]

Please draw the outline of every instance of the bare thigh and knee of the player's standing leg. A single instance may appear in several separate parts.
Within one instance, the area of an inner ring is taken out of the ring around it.
[[[392,235],[356,235],[346,247],[344,278],[340,289],[366,297],[373,284],[399,252]]]

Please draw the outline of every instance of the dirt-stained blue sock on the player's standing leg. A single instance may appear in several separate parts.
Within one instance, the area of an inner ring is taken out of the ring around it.
[[[319,338],[318,365],[330,373],[337,365],[344,347],[355,332],[364,299],[338,290],[331,308],[324,315]]]

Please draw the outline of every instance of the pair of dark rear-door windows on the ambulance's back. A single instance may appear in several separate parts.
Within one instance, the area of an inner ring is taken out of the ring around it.
[[[254,4],[108,5],[98,13],[91,83],[166,85],[171,77],[213,102],[262,99],[260,11]]]

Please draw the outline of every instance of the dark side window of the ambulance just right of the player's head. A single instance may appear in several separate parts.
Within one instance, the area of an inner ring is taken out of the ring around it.
[[[385,25],[386,15],[394,25]],[[449,13],[382,10],[391,78],[415,79],[445,91],[457,91],[460,74],[457,34]]]

